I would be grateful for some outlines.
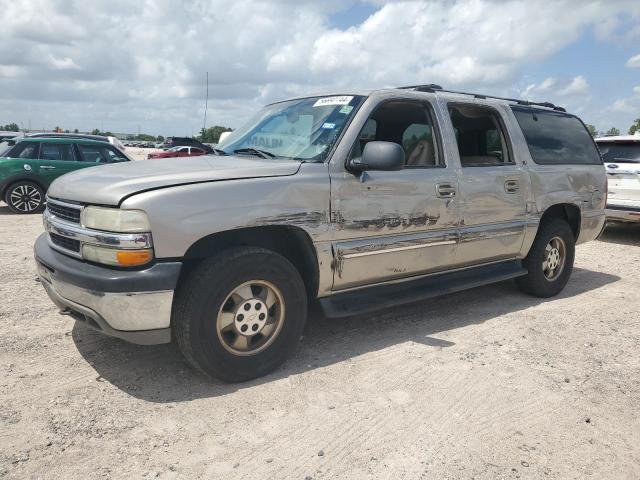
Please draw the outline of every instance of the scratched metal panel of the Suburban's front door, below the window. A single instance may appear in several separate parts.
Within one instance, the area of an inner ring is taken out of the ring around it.
[[[448,168],[369,171],[332,179],[334,290],[442,270],[455,259],[457,188]]]

